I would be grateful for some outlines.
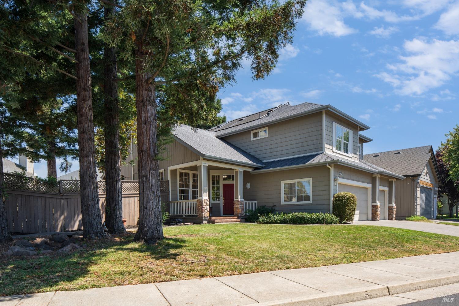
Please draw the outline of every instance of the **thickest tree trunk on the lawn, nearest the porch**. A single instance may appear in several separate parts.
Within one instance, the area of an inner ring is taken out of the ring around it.
[[[139,229],[134,240],[154,244],[163,239],[161,197],[157,157],[155,87],[148,82],[141,45],[135,51],[135,100],[137,106],[137,150],[139,156]]]

